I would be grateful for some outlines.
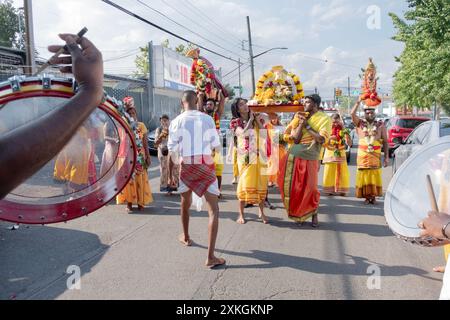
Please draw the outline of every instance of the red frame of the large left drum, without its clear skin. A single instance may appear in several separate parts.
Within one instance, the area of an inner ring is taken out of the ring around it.
[[[75,95],[75,91],[76,83],[72,79],[45,75],[34,78],[14,77],[9,81],[0,83],[0,107],[13,101],[17,102],[17,100],[28,98],[70,99]],[[36,201],[36,199],[27,201],[26,197],[21,198],[22,196],[18,199],[16,199],[17,197],[11,199],[10,194],[0,200],[0,220],[24,224],[66,222],[86,216],[103,207],[127,185],[136,163],[136,145],[133,131],[126,118],[118,112],[118,102],[114,98],[105,97],[95,112],[105,113],[107,115],[104,117],[105,121],[113,123],[116,128],[121,128],[120,130],[126,138],[118,143],[125,143],[126,140],[128,150],[126,156],[124,156],[124,164],[114,167],[114,170],[105,170],[106,173],[95,183],[90,184],[88,188],[81,190],[79,194],[74,194],[72,197],[62,195],[53,199],[42,198],[42,201]]]

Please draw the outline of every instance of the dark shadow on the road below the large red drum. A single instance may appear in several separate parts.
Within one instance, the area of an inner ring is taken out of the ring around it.
[[[0,223],[0,299],[55,299],[67,291],[67,268],[89,273],[108,250],[97,235],[56,227],[20,226],[9,231]],[[48,293],[47,293],[48,292]]]

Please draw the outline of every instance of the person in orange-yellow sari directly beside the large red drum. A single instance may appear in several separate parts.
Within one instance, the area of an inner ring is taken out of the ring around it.
[[[137,112],[132,98],[125,101],[128,114],[137,121]],[[138,123],[135,130],[137,144],[137,163],[133,177],[127,186],[117,196],[117,204],[127,204],[127,212],[133,211],[133,204],[138,205],[139,211],[144,210],[145,205],[153,202],[152,191],[148,181],[147,168],[151,164],[148,151],[147,128],[142,122]]]

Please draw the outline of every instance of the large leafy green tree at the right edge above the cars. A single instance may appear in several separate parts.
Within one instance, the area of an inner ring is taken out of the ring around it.
[[[398,105],[430,108],[434,103],[450,111],[450,2],[408,0],[405,20],[390,13],[405,49],[398,57],[394,79]]]

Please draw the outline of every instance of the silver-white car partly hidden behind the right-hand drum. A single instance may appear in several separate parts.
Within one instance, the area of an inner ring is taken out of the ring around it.
[[[419,125],[409,137],[403,141],[394,138],[394,161],[392,170],[395,173],[414,152],[425,145],[445,136],[450,136],[450,120],[426,121]]]

